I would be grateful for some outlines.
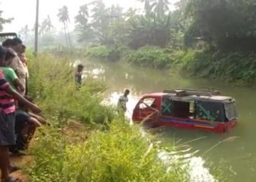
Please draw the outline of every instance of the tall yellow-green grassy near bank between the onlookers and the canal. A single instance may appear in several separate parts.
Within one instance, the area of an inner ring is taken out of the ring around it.
[[[31,145],[31,181],[189,181],[178,160],[159,159],[164,148],[151,146],[154,138],[142,137],[139,126],[102,106],[104,85],[86,78],[81,90],[75,88],[68,59],[39,55],[30,74],[29,91],[50,122]],[[70,132],[74,120],[82,125]]]

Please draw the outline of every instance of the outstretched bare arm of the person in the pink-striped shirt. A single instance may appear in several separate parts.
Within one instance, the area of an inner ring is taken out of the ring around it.
[[[7,92],[7,94],[11,95],[16,100],[18,100],[20,103],[23,103],[25,106],[31,109],[31,111],[33,111],[34,113],[41,112],[41,109],[37,105],[29,102],[29,100],[26,100],[26,98],[23,98],[23,96],[21,96],[18,92],[13,90],[12,87],[10,87],[10,84],[4,85],[4,87],[1,87],[1,89]]]

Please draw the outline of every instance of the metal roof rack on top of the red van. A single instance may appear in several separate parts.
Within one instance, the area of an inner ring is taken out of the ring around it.
[[[213,87],[211,87],[208,90],[178,88],[175,90],[164,90],[164,93],[172,93],[172,94],[176,94],[177,96],[197,95],[197,96],[211,97],[213,95],[221,95],[221,93],[218,90],[214,90]]]

